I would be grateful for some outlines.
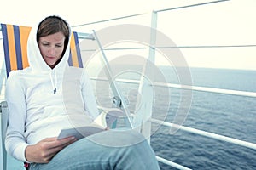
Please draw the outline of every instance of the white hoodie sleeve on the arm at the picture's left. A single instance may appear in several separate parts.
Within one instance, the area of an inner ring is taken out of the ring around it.
[[[20,161],[26,161],[26,101],[24,89],[18,78],[18,71],[11,71],[6,82],[5,98],[9,106],[9,122],[5,145],[9,155]]]

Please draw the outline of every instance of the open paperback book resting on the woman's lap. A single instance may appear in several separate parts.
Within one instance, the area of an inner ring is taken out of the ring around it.
[[[110,127],[111,124],[120,116],[123,116],[121,110],[112,109],[109,111],[103,111],[96,117],[94,122],[84,127],[73,127],[62,129],[57,139],[64,139],[70,136],[76,139],[81,139],[94,133],[100,133]]]

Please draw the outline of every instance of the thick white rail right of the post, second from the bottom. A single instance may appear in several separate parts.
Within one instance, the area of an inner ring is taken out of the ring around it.
[[[244,141],[244,140],[234,139],[234,138],[230,138],[230,137],[220,135],[220,134],[216,134],[216,133],[209,133],[209,132],[206,132],[206,131],[203,131],[203,130],[198,130],[198,129],[192,128],[192,127],[184,127],[182,125],[177,125],[177,124],[174,124],[174,123],[171,123],[171,122],[160,121],[160,120],[154,119],[154,118],[151,118],[150,121],[154,122],[154,123],[157,123],[157,124],[160,124],[160,125],[164,125],[166,127],[174,127],[174,128],[177,128],[177,129],[189,132],[189,133],[199,134],[201,136],[206,136],[208,138],[218,139],[218,140],[222,140],[222,141],[229,142],[229,143],[232,143],[232,144],[238,144],[238,145],[256,150],[256,144],[253,144],[251,142],[247,142],[247,141]]]

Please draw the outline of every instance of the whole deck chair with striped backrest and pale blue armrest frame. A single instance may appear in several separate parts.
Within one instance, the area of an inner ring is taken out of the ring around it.
[[[10,71],[21,70],[28,66],[26,43],[29,32],[31,31],[31,27],[1,24],[1,28],[3,35],[3,51],[6,65],[6,75],[8,77]],[[91,37],[88,39],[91,39]],[[71,66],[82,68],[83,62],[78,44],[78,32],[73,31],[70,42],[71,53],[69,55],[68,64]],[[0,170],[5,170],[7,168],[7,153],[4,146],[4,139],[8,121],[7,110],[7,102],[2,101],[0,105],[0,118],[2,132],[1,153],[3,154],[0,155],[0,158],[1,161],[3,160],[3,163],[0,163]]]

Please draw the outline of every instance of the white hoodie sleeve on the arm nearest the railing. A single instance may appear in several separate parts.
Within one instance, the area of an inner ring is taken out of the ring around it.
[[[94,119],[99,116],[99,111],[97,109],[96,97],[91,86],[90,77],[83,71],[82,74],[82,95],[84,99],[84,109],[90,113]]]

